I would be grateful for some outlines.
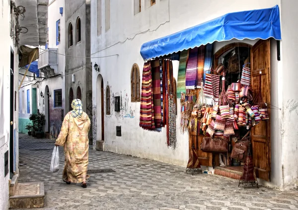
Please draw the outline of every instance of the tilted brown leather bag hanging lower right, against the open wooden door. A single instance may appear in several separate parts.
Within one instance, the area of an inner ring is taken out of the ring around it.
[[[245,161],[247,150],[250,146],[250,137],[247,137],[249,133],[250,131],[247,132],[247,134],[240,141],[235,142],[235,145],[233,146],[231,152],[231,158],[234,158],[241,162]]]

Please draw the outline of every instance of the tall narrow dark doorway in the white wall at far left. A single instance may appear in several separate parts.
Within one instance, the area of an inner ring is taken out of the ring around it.
[[[14,165],[15,165],[15,158],[14,158],[14,131],[13,131],[13,121],[14,121],[14,110],[13,110],[13,93],[14,93],[14,76],[13,71],[14,70],[14,53],[13,50],[10,49],[10,128],[9,128],[9,171],[10,171],[10,179],[13,176],[13,173],[15,172]]]

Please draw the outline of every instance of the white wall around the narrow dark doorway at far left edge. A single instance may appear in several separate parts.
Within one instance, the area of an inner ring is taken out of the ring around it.
[[[3,7],[2,7],[3,6]],[[0,4],[0,209],[8,210],[8,180],[9,173],[4,177],[4,153],[8,150],[9,147],[9,128],[10,128],[10,107],[13,106],[10,104],[10,88],[14,88],[17,91],[17,68],[14,71],[14,87],[10,87],[10,51],[11,49],[14,53],[17,52],[16,48],[13,46],[12,40],[10,38],[10,5],[7,0],[4,0]],[[17,67],[16,57],[14,58],[14,67]],[[16,100],[18,102],[18,100]],[[16,163],[18,163],[18,104],[16,104],[17,110],[14,112],[13,127],[16,129]],[[16,165],[16,172],[18,173],[18,166]]]

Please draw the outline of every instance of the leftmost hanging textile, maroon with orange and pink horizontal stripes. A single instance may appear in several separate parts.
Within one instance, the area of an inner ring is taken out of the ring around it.
[[[145,63],[143,68],[139,125],[140,127],[146,130],[155,129],[152,94],[152,75],[151,65],[149,62]]]

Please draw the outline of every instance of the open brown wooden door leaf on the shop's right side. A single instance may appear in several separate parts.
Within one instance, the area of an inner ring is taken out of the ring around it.
[[[251,86],[253,96],[259,92],[263,102],[270,104],[270,40],[258,41],[251,50]],[[261,82],[260,82],[261,74]],[[269,120],[261,121],[251,130],[253,163],[257,178],[269,181],[271,171],[270,109]]]

